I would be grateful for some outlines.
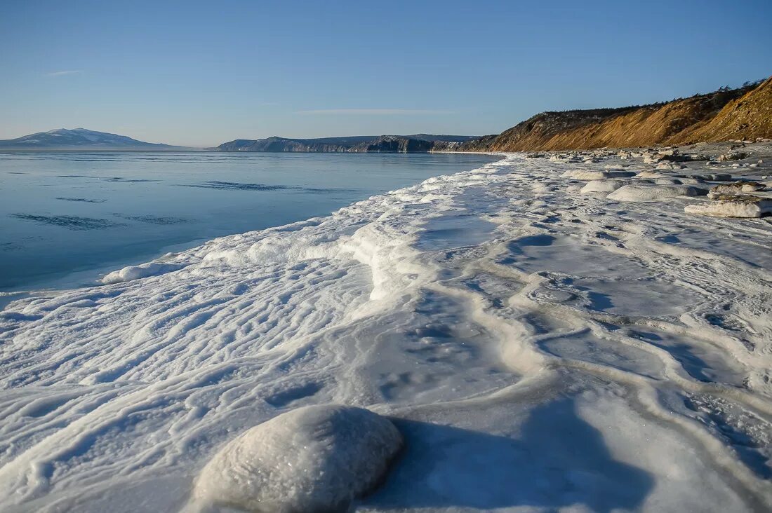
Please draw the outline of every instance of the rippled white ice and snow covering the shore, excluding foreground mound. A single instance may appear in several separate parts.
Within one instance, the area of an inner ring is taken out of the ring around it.
[[[324,403],[405,438],[357,511],[772,508],[772,224],[581,194],[561,175],[654,167],[588,155],[504,155],[5,306],[0,509],[189,509],[224,444]]]

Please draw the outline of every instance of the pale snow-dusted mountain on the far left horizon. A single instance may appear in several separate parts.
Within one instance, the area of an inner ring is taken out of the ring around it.
[[[17,139],[0,140],[0,150],[178,150],[168,144],[145,143],[115,133],[85,128],[57,128]]]

